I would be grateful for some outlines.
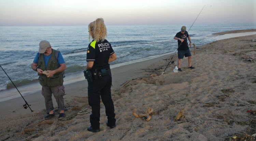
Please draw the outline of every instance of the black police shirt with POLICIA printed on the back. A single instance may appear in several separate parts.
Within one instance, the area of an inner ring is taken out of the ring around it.
[[[113,53],[115,52],[106,39],[103,42],[93,40],[87,48],[86,61],[94,61],[93,70],[109,69],[109,57]]]

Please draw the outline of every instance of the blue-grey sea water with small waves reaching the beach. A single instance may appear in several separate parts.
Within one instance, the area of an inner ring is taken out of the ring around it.
[[[191,25],[186,25],[187,31]],[[111,66],[122,66],[154,58],[177,50],[173,37],[182,25],[107,25],[107,40],[117,60]],[[193,25],[188,32],[197,47],[218,40],[212,33],[255,29],[256,24]],[[39,49],[39,42],[48,40],[53,49],[59,49],[66,65],[66,76],[82,72],[86,67],[86,50],[89,44],[85,26],[20,26],[0,27],[0,65],[16,86],[38,82],[31,63]],[[13,84],[0,69],[1,90]],[[0,96],[1,97],[1,96]]]

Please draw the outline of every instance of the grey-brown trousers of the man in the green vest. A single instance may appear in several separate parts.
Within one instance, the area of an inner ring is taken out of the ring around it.
[[[65,87],[63,85],[59,85],[56,87],[42,86],[42,95],[44,96],[45,108],[47,113],[49,113],[49,111],[51,110],[54,110],[52,94],[58,104],[59,111],[64,110],[65,106],[63,96],[65,95]]]

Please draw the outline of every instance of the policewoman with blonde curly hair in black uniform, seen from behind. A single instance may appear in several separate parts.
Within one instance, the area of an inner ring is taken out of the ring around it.
[[[114,128],[115,110],[111,98],[112,76],[109,63],[116,60],[116,55],[111,44],[106,40],[106,26],[102,18],[98,18],[88,25],[89,43],[87,48],[87,81],[88,81],[88,103],[91,106],[91,126],[87,128],[91,132],[100,131],[100,98],[105,106],[108,117],[107,126]],[[86,75],[86,73],[85,73]]]

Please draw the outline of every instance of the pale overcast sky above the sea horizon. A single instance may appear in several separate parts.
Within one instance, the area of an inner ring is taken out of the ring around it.
[[[0,0],[0,25],[256,23],[256,0]]]

